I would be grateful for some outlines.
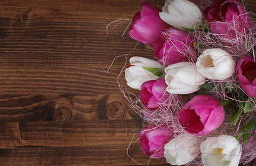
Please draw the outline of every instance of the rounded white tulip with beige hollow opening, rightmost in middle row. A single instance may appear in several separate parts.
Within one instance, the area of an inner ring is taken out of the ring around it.
[[[225,80],[234,73],[236,62],[221,48],[204,50],[195,63],[198,72],[211,80]]]

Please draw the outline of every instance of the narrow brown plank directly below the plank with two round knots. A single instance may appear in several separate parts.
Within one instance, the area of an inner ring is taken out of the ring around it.
[[[133,130],[139,130],[141,127],[141,120],[6,122],[0,127],[0,148],[127,144],[134,134],[138,137],[138,132],[133,132]]]

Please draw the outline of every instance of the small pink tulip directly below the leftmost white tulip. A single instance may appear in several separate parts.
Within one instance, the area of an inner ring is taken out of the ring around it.
[[[164,99],[169,93],[164,95],[167,84],[164,78],[159,80],[150,80],[144,82],[141,85],[140,99],[143,105],[150,110],[159,108],[160,104],[164,102]]]

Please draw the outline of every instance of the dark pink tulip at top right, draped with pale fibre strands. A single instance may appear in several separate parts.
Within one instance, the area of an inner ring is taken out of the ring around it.
[[[250,18],[237,0],[215,0],[205,8],[204,15],[213,33],[230,39],[237,38],[237,33],[244,34],[250,28]]]

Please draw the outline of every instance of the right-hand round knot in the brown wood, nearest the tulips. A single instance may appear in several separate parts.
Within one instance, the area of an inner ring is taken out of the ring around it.
[[[125,116],[125,107],[121,102],[111,102],[106,107],[106,117],[110,120],[122,119]]]

